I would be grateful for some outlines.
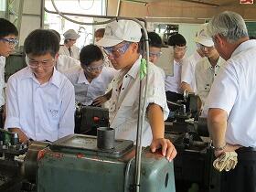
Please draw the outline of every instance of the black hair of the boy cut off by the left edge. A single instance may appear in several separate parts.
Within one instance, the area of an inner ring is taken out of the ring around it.
[[[18,35],[16,26],[5,18],[0,18],[0,37],[6,37],[9,35]]]

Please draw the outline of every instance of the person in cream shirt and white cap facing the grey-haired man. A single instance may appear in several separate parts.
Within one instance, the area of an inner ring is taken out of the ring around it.
[[[225,60],[219,57],[219,53],[214,48],[214,43],[207,33],[207,25],[205,25],[197,35],[197,48],[200,48],[205,55],[196,66],[195,77],[197,85],[197,95],[200,99],[199,110],[202,109],[210,91],[211,85],[216,78],[219,69],[225,63]]]

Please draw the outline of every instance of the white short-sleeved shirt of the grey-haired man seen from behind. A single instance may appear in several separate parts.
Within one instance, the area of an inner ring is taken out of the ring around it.
[[[226,142],[256,147],[256,40],[235,49],[212,85],[205,110],[219,108],[228,117]]]

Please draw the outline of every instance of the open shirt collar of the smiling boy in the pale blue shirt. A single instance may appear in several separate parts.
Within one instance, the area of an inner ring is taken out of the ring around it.
[[[21,75],[21,79],[33,79],[37,81],[37,78],[35,77],[34,73],[32,72],[32,70],[27,67],[25,68],[25,72]],[[48,80],[49,83],[54,84],[56,87],[60,87],[60,73],[57,69],[53,69],[53,74],[51,76],[51,78]]]

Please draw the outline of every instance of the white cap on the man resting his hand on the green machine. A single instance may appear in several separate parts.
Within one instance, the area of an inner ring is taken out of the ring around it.
[[[101,47],[112,47],[123,41],[139,42],[141,37],[139,24],[132,20],[118,20],[105,27],[104,36],[96,44]]]

